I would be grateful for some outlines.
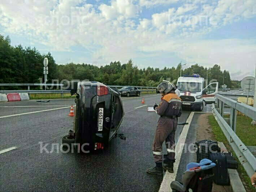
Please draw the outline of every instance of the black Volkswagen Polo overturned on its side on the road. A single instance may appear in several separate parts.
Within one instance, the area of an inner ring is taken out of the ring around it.
[[[62,145],[82,152],[107,148],[124,116],[120,94],[94,81],[65,82],[64,87],[76,95],[76,107],[73,131],[62,138]]]

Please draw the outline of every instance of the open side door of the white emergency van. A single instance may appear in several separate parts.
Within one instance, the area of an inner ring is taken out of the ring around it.
[[[215,103],[215,94],[218,93],[218,82],[210,83],[203,90],[203,100],[205,105]]]

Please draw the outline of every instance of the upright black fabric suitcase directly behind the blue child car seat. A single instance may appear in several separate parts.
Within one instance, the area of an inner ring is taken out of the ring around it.
[[[213,167],[214,183],[217,185],[229,185],[229,174],[227,172],[227,158],[224,153],[211,153],[210,160],[216,164]]]

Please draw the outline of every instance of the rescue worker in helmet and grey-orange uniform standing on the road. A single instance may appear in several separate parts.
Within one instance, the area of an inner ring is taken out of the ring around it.
[[[160,83],[157,86],[157,92],[161,93],[162,98],[159,106],[153,106],[156,113],[160,115],[152,145],[156,166],[147,169],[147,173],[161,175],[162,169],[173,173],[173,163],[175,162],[174,137],[177,128],[177,117],[180,117],[182,113],[182,102],[178,95],[175,94],[175,87],[170,83]],[[164,155],[162,165],[162,143],[164,141],[168,154]]]

